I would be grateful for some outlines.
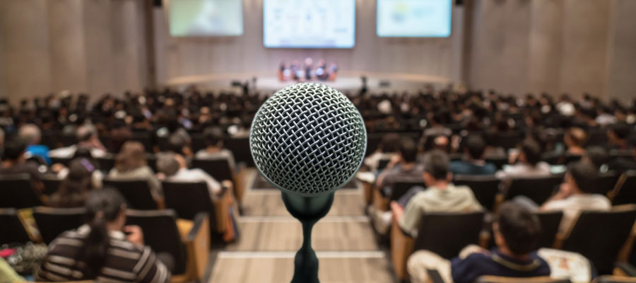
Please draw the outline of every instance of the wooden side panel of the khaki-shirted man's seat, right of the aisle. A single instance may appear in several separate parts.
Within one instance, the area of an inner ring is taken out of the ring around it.
[[[398,279],[406,280],[408,272],[406,272],[406,260],[413,253],[415,239],[406,235],[402,231],[395,217],[391,223],[391,258],[393,259],[393,268]]]

